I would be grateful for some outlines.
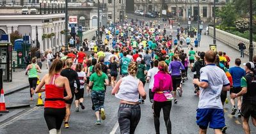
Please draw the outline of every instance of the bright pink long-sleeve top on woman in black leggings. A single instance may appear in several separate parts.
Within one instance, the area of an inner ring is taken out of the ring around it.
[[[154,94],[154,101],[167,101],[163,93],[157,91],[172,91],[172,77],[164,71],[158,71],[154,76],[154,87],[152,92]]]

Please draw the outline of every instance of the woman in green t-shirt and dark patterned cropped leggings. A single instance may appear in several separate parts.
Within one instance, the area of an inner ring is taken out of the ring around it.
[[[100,124],[100,116],[102,120],[106,119],[104,111],[105,87],[108,86],[108,75],[101,70],[101,64],[95,64],[95,72],[90,77],[89,87],[92,87],[92,101],[95,107],[95,115],[97,121],[95,124]]]

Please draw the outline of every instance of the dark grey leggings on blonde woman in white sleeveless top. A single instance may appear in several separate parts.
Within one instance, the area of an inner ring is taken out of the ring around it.
[[[140,122],[140,105],[120,104],[118,109],[118,123],[120,133],[133,134]]]

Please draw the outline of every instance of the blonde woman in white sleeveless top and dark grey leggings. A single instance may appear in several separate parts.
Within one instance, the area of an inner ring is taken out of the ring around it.
[[[137,71],[138,65],[135,62],[129,63],[129,75],[118,80],[112,90],[112,94],[120,99],[118,123],[121,134],[134,134],[141,117],[139,94],[144,100],[147,97],[143,83],[136,78]]]

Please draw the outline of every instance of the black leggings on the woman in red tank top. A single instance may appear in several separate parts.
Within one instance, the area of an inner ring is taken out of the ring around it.
[[[66,115],[66,108],[44,108],[44,119],[48,130],[60,130],[63,119]]]

